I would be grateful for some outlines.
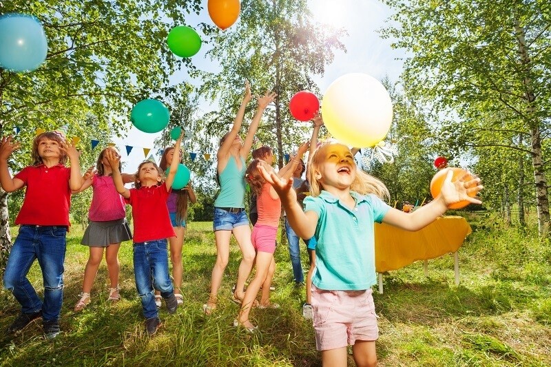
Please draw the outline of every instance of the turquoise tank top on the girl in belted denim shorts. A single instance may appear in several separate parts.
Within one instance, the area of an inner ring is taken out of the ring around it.
[[[233,156],[229,157],[224,171],[220,172],[220,193],[214,201],[214,206],[219,208],[245,208],[245,159],[240,156],[241,169]]]

